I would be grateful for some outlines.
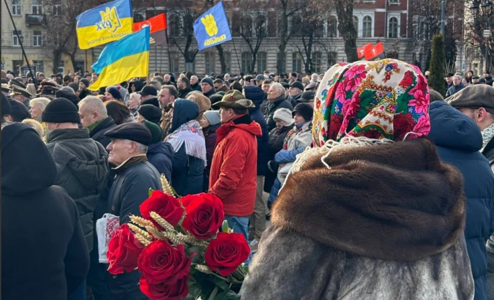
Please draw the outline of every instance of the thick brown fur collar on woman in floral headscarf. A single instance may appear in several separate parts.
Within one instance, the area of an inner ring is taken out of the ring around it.
[[[325,160],[331,169],[321,162],[327,151],[297,158],[303,163],[273,208],[275,226],[384,260],[424,258],[461,237],[463,177],[429,140],[334,150]]]

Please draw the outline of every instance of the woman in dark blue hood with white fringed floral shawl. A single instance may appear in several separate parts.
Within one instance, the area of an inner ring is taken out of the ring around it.
[[[180,196],[200,193],[206,166],[206,144],[197,118],[199,105],[180,99],[173,103],[173,118],[165,138],[173,147],[171,184]]]

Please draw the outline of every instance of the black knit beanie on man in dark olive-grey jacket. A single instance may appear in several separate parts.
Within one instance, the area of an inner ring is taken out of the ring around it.
[[[41,114],[41,120],[50,123],[80,123],[81,121],[76,104],[66,98],[51,100]]]

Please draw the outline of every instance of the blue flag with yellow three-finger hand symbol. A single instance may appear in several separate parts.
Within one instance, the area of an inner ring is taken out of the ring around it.
[[[208,9],[196,20],[194,34],[199,44],[199,50],[232,40],[232,33],[222,2]]]

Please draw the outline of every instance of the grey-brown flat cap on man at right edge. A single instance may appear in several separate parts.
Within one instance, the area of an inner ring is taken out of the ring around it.
[[[494,87],[475,84],[465,87],[445,100],[454,108],[485,108],[494,112]]]

